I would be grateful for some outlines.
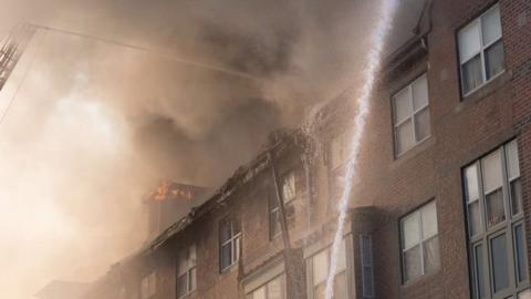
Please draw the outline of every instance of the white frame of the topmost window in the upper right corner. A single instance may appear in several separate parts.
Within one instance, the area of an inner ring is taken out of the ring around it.
[[[482,18],[488,14],[491,10],[498,8],[499,9],[499,12],[500,12],[500,31],[501,31],[501,35],[498,37],[496,40],[489,42],[488,44],[483,44],[483,28],[482,28]],[[477,16],[476,18],[473,18],[472,20],[468,21],[467,23],[465,23],[464,25],[461,25],[457,31],[456,31],[456,48],[457,48],[457,62],[458,62],[458,65],[459,65],[459,84],[460,84],[460,94],[461,94],[461,99],[464,97],[467,97],[469,95],[471,95],[472,93],[477,92],[478,90],[482,89],[483,86],[486,86],[487,84],[489,84],[490,82],[494,81],[497,78],[499,78],[500,75],[502,75],[506,71],[507,71],[507,61],[506,61],[506,52],[504,52],[504,44],[503,44],[503,24],[501,23],[501,8],[500,8],[500,3],[499,1],[489,6],[486,10],[483,10],[479,16]],[[461,58],[460,58],[460,43],[459,43],[459,33],[462,32],[462,30],[465,30],[466,28],[468,28],[469,25],[472,25],[475,23],[478,23],[478,28],[479,28],[479,39],[480,39],[480,47],[479,47],[479,51],[475,52],[473,54],[471,54],[471,56],[466,60],[466,61],[462,61],[461,62]],[[486,50],[490,49],[492,45],[494,45],[497,42],[501,41],[501,44],[502,44],[502,49],[503,49],[503,70],[501,70],[499,73],[497,73],[496,75],[492,75],[490,79],[487,79],[487,69],[486,69],[486,58],[485,58],[485,52]],[[478,86],[469,90],[468,92],[465,92],[465,75],[462,73],[462,66],[470,62],[471,60],[473,60],[476,56],[480,58],[480,62],[481,62],[481,84],[479,84]]]

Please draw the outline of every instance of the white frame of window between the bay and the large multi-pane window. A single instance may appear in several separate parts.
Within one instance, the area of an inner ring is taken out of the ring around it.
[[[423,227],[423,214],[421,212],[428,207],[429,205],[435,205],[435,216],[436,216],[436,225],[437,225],[437,233],[435,235],[431,235],[431,236],[428,236],[428,237],[425,237],[424,236],[424,227]],[[410,217],[416,217],[417,218],[417,224],[418,224],[418,241],[408,247],[408,248],[405,248],[404,246],[404,240],[405,240],[405,234],[404,234],[404,221]],[[428,202],[424,203],[423,205],[418,206],[417,208],[415,208],[414,210],[410,210],[409,213],[407,213],[406,215],[404,215],[400,219],[399,219],[399,243],[400,243],[400,271],[402,271],[402,283],[403,285],[407,285],[407,283],[410,283],[410,282],[414,282],[414,281],[417,281],[418,279],[421,279],[423,277],[425,277],[426,275],[431,275],[431,274],[435,274],[437,271],[440,270],[440,267],[441,267],[441,260],[440,260],[440,238],[439,238],[439,214],[438,214],[438,207],[437,207],[437,200],[434,198],[434,199],[429,199]],[[438,244],[437,246],[439,247],[438,248],[438,259],[439,259],[439,265],[437,267],[437,269],[434,269],[433,271],[430,272],[427,272],[426,271],[426,268],[425,268],[425,249],[424,249],[424,245],[428,241],[430,241],[431,239],[434,238],[437,238],[438,239]],[[421,272],[416,276],[416,277],[412,277],[412,278],[408,278],[406,279],[406,261],[405,261],[405,254],[406,251],[408,251],[409,249],[412,248],[415,248],[416,246],[419,247],[419,258],[420,258],[420,270]]]

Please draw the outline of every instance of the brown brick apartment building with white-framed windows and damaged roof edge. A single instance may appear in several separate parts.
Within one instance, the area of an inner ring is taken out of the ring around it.
[[[416,2],[372,99],[335,298],[531,298],[531,2]],[[324,298],[355,92],[86,298]]]

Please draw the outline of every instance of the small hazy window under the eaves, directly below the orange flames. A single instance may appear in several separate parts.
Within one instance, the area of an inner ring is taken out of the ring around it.
[[[179,252],[177,260],[177,298],[183,298],[196,289],[196,246]]]

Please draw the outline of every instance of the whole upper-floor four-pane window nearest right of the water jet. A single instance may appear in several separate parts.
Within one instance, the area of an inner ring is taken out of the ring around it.
[[[427,75],[397,92],[392,102],[395,154],[398,156],[431,134]]]

